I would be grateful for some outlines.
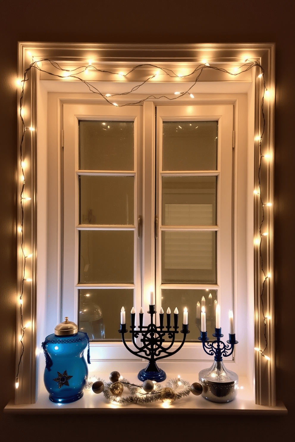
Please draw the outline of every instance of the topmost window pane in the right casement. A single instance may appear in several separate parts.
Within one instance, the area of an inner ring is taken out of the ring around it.
[[[163,122],[162,170],[216,170],[217,121]]]

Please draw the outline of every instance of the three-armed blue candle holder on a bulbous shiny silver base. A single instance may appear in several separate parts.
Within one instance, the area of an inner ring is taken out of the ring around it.
[[[215,328],[213,336],[216,339],[210,341],[207,338],[207,331],[201,331],[199,337],[204,351],[211,356],[214,355],[213,365],[199,372],[199,382],[203,386],[202,396],[213,402],[230,402],[238,393],[238,375],[225,368],[222,357],[230,356],[238,341],[233,333],[229,335],[227,345],[222,342],[221,328]]]

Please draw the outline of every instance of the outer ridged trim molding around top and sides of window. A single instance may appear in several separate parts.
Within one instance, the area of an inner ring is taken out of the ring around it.
[[[57,62],[72,61],[77,65],[84,65],[89,58],[96,59],[100,63],[111,65],[137,65],[141,63],[177,65],[178,63],[200,64],[203,58],[210,59],[211,63],[225,63],[227,65],[241,64],[242,60],[248,58],[257,61],[264,69],[264,79],[271,98],[263,102],[263,83],[253,76],[255,87],[255,121],[254,133],[263,139],[256,139],[254,142],[254,189],[261,187],[261,198],[264,202],[273,202],[273,153],[274,153],[274,97],[275,97],[275,45],[267,43],[250,44],[188,44],[188,45],[122,45],[122,44],[87,44],[87,43],[44,43],[44,42],[19,42],[18,47],[18,78],[22,79],[26,69],[31,64],[31,54],[34,60],[48,58]],[[253,68],[257,69],[257,68]],[[26,121],[31,126],[37,127],[38,107],[38,71],[32,69],[26,81],[25,93],[23,95],[23,109],[26,110]],[[230,79],[232,80],[232,79]],[[63,80],[64,81],[64,80]],[[221,81],[229,81],[222,77]],[[21,88],[18,89],[18,102],[21,98]],[[264,120],[261,114],[261,106],[264,105]],[[265,123],[265,126],[264,126]],[[38,137],[40,137],[40,133]],[[46,134],[41,135],[45,139]],[[23,137],[23,126],[18,108],[18,198],[22,191],[21,181],[22,168],[20,165],[20,147]],[[36,401],[36,342],[39,319],[37,312],[37,133],[27,130],[23,138],[23,152],[29,167],[26,170],[25,191],[30,194],[29,204],[24,202],[23,213],[18,208],[17,225],[23,225],[23,233],[18,233],[18,267],[17,267],[17,299],[23,286],[22,305],[23,317],[26,322],[31,321],[31,328],[27,328],[23,338],[24,352],[22,345],[16,339],[16,372],[19,361],[19,388],[15,390],[15,403],[34,403]],[[269,160],[264,160],[267,152]],[[144,174],[145,176],[145,174]],[[144,178],[145,179],[145,178]],[[262,190],[263,189],[263,190]],[[46,202],[38,201],[38,210]],[[254,198],[249,201],[249,208],[254,213],[254,232],[260,232],[263,207],[261,199]],[[23,220],[23,221],[22,221]],[[261,255],[263,256],[266,274],[274,275],[273,259],[273,207],[270,210],[264,209],[264,227],[268,232],[267,240],[261,242],[261,246],[254,246],[254,343],[257,348],[264,348],[267,335],[267,349],[270,360],[261,357],[259,351],[255,352],[255,396],[259,405],[276,405],[275,392],[275,344],[274,344],[274,284],[273,278],[265,278],[261,270]],[[32,257],[26,259],[22,252],[22,240],[26,247],[31,250]],[[38,247],[42,246],[40,241]],[[38,267],[43,263],[38,262]],[[24,281],[23,269],[26,265],[26,278],[32,281]],[[145,271],[150,271],[146,269]],[[267,307],[268,316],[271,320],[264,320],[261,305],[261,293],[264,298],[264,308]],[[39,302],[39,300],[38,300]],[[265,331],[264,331],[265,328]],[[16,337],[22,333],[20,309],[17,309]]]

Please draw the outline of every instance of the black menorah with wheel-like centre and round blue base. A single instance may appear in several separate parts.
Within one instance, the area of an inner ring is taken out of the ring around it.
[[[162,309],[161,309],[162,310]],[[174,311],[174,326],[172,327],[170,325],[171,320],[171,313],[167,312],[167,325],[164,327],[164,312],[162,310],[162,313],[160,312],[160,325],[156,326],[153,322],[153,316],[157,313],[155,310],[154,305],[149,305],[149,311],[150,315],[150,324],[145,326],[143,325],[143,312],[139,313],[139,327],[138,330],[135,328],[135,312],[131,312],[131,325],[130,325],[130,333],[132,335],[132,342],[136,350],[131,350],[130,347],[127,346],[124,334],[128,333],[126,330],[126,324],[120,325],[119,333],[122,334],[122,341],[125,345],[126,349],[130,351],[130,353],[134,354],[135,356],[138,356],[140,358],[147,359],[149,361],[148,365],[145,369],[140,370],[138,373],[138,379],[141,381],[146,381],[146,379],[149,379],[151,381],[157,381],[161,382],[166,379],[166,373],[164,370],[159,369],[159,367],[156,364],[156,361],[159,359],[168,358],[172,354],[177,353],[177,351],[180,350],[180,348],[184,345],[184,341],[186,338],[186,335],[189,333],[188,331],[188,324],[182,324],[182,330],[181,333],[183,333],[182,342],[180,343],[179,347],[176,348],[174,351],[170,351],[172,348],[176,335],[179,333],[177,330],[179,327],[177,326],[178,323],[178,310],[176,309]],[[122,322],[122,320],[121,320]],[[164,330],[164,328],[167,328],[167,331]],[[173,329],[173,330],[172,330]],[[141,335],[140,342],[142,343],[142,346],[140,347],[138,343],[135,341],[138,336]],[[171,339],[167,347],[165,347],[163,344],[167,342],[165,340],[165,337]]]

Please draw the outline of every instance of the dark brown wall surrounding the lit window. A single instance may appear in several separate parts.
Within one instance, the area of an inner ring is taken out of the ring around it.
[[[14,394],[16,293],[16,91],[18,41],[49,42],[275,42],[275,296],[277,398],[289,414],[210,417],[116,418],[1,414],[0,439],[41,442],[67,438],[112,440],[203,438],[292,441],[294,436],[294,358],[288,353],[294,332],[294,13],[291,0],[12,0],[2,2],[0,50],[0,408]],[[292,323],[293,320],[293,323]],[[1,412],[2,413],[2,412]],[[150,431],[149,431],[150,430]],[[121,433],[122,431],[122,433]],[[141,433],[142,432],[142,433]],[[120,434],[123,434],[120,437]],[[227,434],[227,435],[226,435]],[[174,438],[173,438],[174,436]],[[103,438],[104,439],[104,438]]]

